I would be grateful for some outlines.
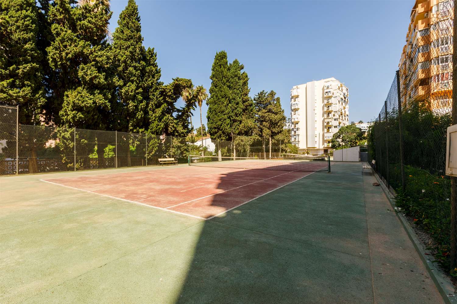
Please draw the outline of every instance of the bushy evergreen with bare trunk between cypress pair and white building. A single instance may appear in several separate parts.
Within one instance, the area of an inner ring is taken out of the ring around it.
[[[286,124],[286,116],[281,107],[281,100],[274,91],[261,91],[254,97],[256,123],[259,135],[269,139],[271,157],[271,138],[282,132]],[[265,153],[265,144],[264,144]]]

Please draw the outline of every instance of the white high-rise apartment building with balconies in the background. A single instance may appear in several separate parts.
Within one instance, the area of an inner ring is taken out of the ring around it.
[[[332,136],[349,124],[349,90],[327,78],[290,90],[291,142],[298,152],[328,153]]]

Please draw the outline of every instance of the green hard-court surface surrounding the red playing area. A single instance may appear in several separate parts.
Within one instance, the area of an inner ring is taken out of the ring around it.
[[[174,168],[0,178],[0,303],[443,302],[360,163],[208,220],[41,181]]]

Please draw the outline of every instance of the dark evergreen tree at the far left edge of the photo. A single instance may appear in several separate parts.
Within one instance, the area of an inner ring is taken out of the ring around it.
[[[0,102],[19,105],[21,124],[39,123],[45,103],[39,31],[35,0],[0,2]]]

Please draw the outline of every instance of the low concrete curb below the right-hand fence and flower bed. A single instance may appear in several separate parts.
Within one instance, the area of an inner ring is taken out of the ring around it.
[[[392,209],[395,210],[395,202],[393,200],[393,195],[387,189],[387,186],[383,183],[382,179],[379,178],[376,172],[374,172],[374,170],[373,173],[378,183],[383,188],[384,194],[386,194],[390,202],[390,205],[392,206]],[[449,276],[447,276],[446,273],[443,273],[443,271],[438,266],[436,266],[435,263],[432,263],[430,257],[433,256],[431,255],[430,251],[425,250],[425,244],[417,238],[415,232],[409,226],[408,221],[405,219],[405,217],[401,215],[399,212],[394,212],[397,214],[397,217],[401,221],[404,230],[406,231],[406,233],[408,233],[409,239],[413,242],[416,251],[419,253],[420,258],[422,259],[422,262],[425,265],[425,268],[427,268],[427,271],[430,274],[430,278],[432,278],[433,282],[435,282],[436,288],[438,288],[438,291],[443,297],[445,303],[457,304],[457,290],[454,284],[452,284]]]

